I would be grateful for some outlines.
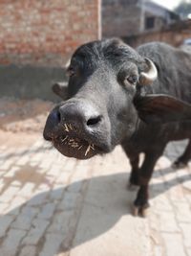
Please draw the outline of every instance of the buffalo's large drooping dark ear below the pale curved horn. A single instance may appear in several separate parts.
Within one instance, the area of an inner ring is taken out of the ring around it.
[[[146,95],[134,99],[138,116],[145,123],[191,121],[191,105],[168,95]]]

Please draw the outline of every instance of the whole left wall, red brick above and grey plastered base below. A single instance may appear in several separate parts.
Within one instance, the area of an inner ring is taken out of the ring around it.
[[[100,36],[99,8],[100,0],[1,0],[0,96],[50,99],[74,49]]]

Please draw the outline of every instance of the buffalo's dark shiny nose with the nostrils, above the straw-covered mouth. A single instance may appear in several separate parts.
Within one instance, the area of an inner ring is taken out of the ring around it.
[[[101,123],[102,116],[93,105],[68,104],[59,108],[60,122],[63,125],[71,125],[79,130],[94,130]]]

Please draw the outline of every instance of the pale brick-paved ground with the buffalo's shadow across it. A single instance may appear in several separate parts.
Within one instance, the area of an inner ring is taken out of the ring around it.
[[[159,159],[146,219],[133,217],[130,166],[118,147],[104,157],[69,159],[40,132],[0,130],[0,256],[190,256],[191,166]]]

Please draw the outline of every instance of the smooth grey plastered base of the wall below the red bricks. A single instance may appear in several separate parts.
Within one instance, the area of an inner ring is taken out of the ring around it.
[[[61,67],[0,65],[0,96],[57,101],[52,92],[55,81],[66,81]]]

